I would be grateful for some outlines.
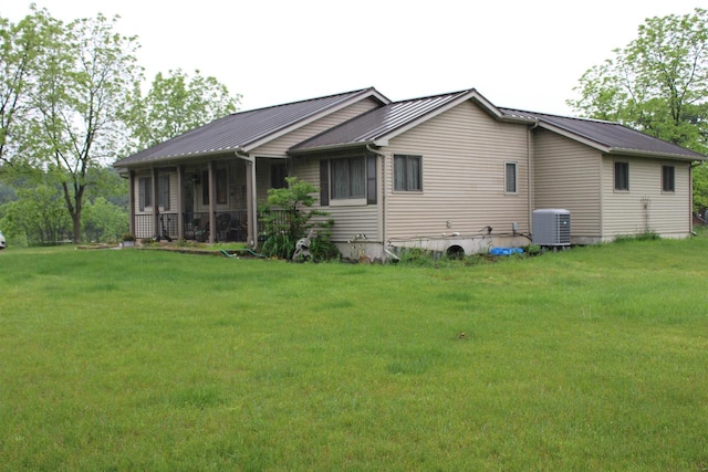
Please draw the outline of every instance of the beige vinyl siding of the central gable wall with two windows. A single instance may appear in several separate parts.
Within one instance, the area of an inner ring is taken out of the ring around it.
[[[529,231],[528,128],[496,120],[465,102],[392,140],[386,153],[386,239]],[[423,191],[393,191],[393,156],[423,158]],[[504,192],[507,162],[518,192]],[[449,223],[448,223],[449,222]]]

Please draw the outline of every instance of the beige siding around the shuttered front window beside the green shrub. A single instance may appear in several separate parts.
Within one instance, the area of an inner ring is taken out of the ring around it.
[[[326,156],[323,156],[326,158]],[[376,166],[377,171],[381,166]],[[320,159],[315,157],[296,157],[294,159],[295,175],[303,180],[312,182],[320,188]],[[378,172],[381,174],[381,172]],[[365,234],[366,239],[372,242],[381,242],[381,233],[378,227],[378,208],[381,204],[381,175],[376,176],[378,186],[378,204],[358,204],[352,207],[320,207],[319,195],[317,202],[314,208],[325,211],[327,219],[334,220],[332,228],[332,240],[335,242],[344,242],[354,239],[356,234]]]

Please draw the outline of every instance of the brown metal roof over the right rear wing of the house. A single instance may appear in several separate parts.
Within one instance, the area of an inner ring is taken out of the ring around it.
[[[618,123],[548,115],[511,108],[499,109],[508,116],[538,119],[541,126],[555,132],[565,132],[571,136],[592,141],[607,153],[638,154],[689,160],[706,159],[706,156],[699,153],[664,141]]]

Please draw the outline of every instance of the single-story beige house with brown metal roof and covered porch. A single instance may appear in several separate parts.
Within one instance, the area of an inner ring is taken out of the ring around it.
[[[691,232],[705,156],[616,123],[498,107],[475,88],[391,102],[365,88],[236,113],[115,162],[136,238],[258,241],[258,206],[298,176],[320,188],[344,255],[527,245],[537,209],[571,242]],[[356,252],[356,254],[354,254]]]

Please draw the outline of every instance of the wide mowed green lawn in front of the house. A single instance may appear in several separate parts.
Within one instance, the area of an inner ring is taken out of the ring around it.
[[[0,469],[705,471],[706,254],[9,249]]]

